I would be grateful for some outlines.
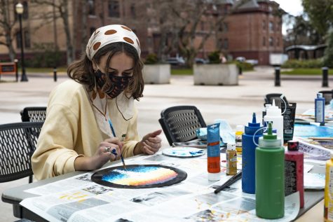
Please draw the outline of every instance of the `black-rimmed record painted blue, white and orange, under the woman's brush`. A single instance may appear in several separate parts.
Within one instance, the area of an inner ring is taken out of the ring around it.
[[[164,165],[126,165],[101,169],[91,180],[114,188],[155,188],[170,186],[186,179],[186,172]]]

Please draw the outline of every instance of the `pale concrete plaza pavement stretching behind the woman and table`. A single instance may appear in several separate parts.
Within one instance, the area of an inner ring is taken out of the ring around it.
[[[28,82],[12,82],[15,76],[1,76],[0,83],[0,124],[20,122],[20,111],[25,106],[46,106],[50,90],[66,81],[65,75],[59,75],[57,82],[53,75],[41,77],[27,74]],[[160,129],[160,113],[169,106],[194,105],[203,114],[205,122],[210,124],[217,118],[226,119],[231,127],[245,125],[252,119],[252,112],[261,118],[264,95],[279,92],[285,94],[289,102],[297,102],[297,113],[314,106],[316,93],[322,88],[321,76],[281,76],[281,86],[274,87],[272,67],[256,67],[254,71],[244,72],[236,86],[193,85],[193,76],[172,76],[170,84],[146,85],[144,97],[137,102],[139,110],[138,132],[144,136],[148,132]],[[332,85],[333,78],[329,78]],[[168,141],[162,135],[163,146]],[[28,179],[0,183],[0,193],[7,188],[28,183]],[[0,221],[15,221],[11,204],[0,202]]]

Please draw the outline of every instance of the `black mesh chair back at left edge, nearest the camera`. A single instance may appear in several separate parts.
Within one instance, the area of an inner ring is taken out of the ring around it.
[[[43,123],[22,122],[0,125],[0,183],[29,176],[32,182],[32,153]]]

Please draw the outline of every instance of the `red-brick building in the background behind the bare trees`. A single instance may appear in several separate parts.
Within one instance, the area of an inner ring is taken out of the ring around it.
[[[158,27],[149,17],[154,12],[153,1],[88,0],[88,7],[84,11],[81,1],[69,0],[67,6],[69,34],[76,58],[82,53],[90,34],[97,27],[108,24],[124,24],[131,27],[139,36],[142,57],[148,53],[156,53],[161,36],[158,34]],[[29,59],[36,55],[36,43],[55,44],[65,57],[67,37],[63,20],[57,17],[57,8],[32,4],[29,1],[21,2],[25,6],[23,38],[26,57]],[[57,0],[55,2],[59,3]],[[246,59],[258,60],[259,64],[269,64],[269,53],[283,52],[282,19],[276,14],[278,4],[269,0],[249,0],[242,6],[238,6],[238,3],[239,1],[233,0],[219,1],[219,13],[229,13],[229,15],[206,41],[198,57],[206,58],[210,52],[221,50],[233,58],[243,56]],[[8,8],[15,6],[13,4]],[[45,15],[41,15],[41,11],[49,16],[43,18]],[[10,11],[9,18],[15,20],[14,10]],[[198,27],[196,43],[200,41],[201,33],[207,29],[208,22],[208,19],[204,18]],[[18,22],[16,22],[13,27],[13,47],[17,53],[16,57],[20,59],[18,31]],[[8,60],[8,49],[4,46],[0,46],[0,60]]]

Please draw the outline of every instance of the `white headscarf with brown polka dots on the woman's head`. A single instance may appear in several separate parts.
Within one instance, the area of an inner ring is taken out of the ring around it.
[[[139,39],[134,32],[125,25],[107,25],[100,27],[90,36],[86,48],[89,60],[93,60],[98,50],[107,46],[109,43],[124,42],[128,43],[137,50],[137,55],[141,54]]]

